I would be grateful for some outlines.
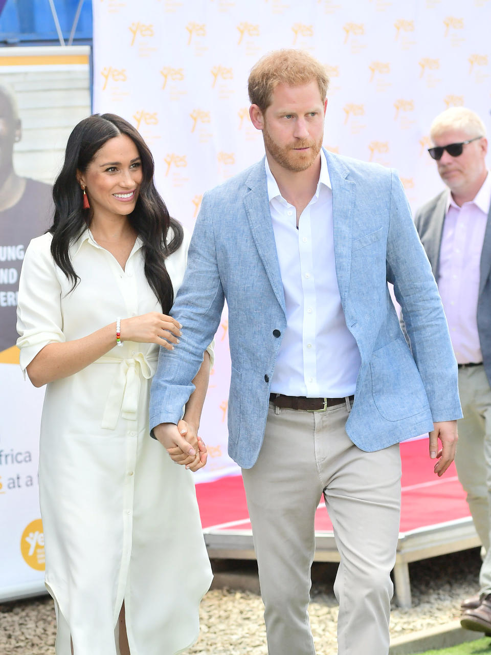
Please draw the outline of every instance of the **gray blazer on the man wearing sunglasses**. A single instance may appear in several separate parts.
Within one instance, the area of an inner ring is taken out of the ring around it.
[[[442,191],[424,204],[414,216],[414,224],[431,264],[431,270],[438,280],[440,244],[445,221],[448,191]],[[477,301],[477,331],[481,342],[484,370],[491,384],[491,206],[488,212],[486,232],[481,252],[481,278]]]

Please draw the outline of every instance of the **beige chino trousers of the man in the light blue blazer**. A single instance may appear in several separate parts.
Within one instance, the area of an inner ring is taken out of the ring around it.
[[[315,655],[308,620],[314,517],[324,496],[340,565],[338,655],[387,655],[390,572],[401,505],[399,445],[374,453],[346,435],[346,404],[325,412],[270,403],[256,464],[243,469],[268,655]]]

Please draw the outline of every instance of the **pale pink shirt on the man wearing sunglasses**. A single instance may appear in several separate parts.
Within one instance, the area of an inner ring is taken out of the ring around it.
[[[438,288],[458,364],[482,362],[477,332],[481,251],[491,204],[491,175],[474,200],[455,204],[450,191],[440,246]]]

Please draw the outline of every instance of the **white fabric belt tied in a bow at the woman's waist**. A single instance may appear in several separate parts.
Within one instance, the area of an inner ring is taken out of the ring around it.
[[[102,428],[114,430],[119,415],[128,421],[136,421],[141,378],[149,380],[152,377],[149,362],[157,360],[158,356],[146,357],[143,352],[137,352],[134,356],[124,359],[105,355],[96,360],[100,364],[119,364],[113,386],[109,390],[109,396],[105,403]]]

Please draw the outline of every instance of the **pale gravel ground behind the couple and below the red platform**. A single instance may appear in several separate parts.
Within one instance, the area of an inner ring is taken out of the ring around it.
[[[413,607],[392,608],[391,635],[448,623],[460,601],[478,589],[479,550],[443,555],[410,565]],[[336,565],[314,564],[310,623],[318,655],[336,650]],[[249,591],[212,589],[201,605],[201,634],[186,655],[265,655],[263,603]],[[53,655],[56,622],[52,601],[41,597],[0,604],[2,655]]]

